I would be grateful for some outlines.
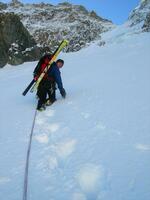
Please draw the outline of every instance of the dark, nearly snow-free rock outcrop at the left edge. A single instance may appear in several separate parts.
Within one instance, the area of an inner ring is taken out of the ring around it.
[[[46,49],[36,42],[14,13],[0,13],[0,67],[39,59]]]

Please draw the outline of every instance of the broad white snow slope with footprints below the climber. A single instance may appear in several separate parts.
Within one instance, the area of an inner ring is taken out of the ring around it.
[[[37,114],[28,200],[150,199],[150,34],[115,31],[60,55],[67,98]],[[35,65],[0,70],[0,200],[22,199]]]

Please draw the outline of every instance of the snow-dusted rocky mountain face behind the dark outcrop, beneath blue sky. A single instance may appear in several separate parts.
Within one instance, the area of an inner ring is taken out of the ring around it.
[[[54,6],[45,3],[22,4],[13,0],[3,11],[13,11],[19,15],[36,42],[51,46],[52,50],[63,38],[70,41],[68,51],[78,51],[114,26],[94,11],[89,12],[81,5],[67,2]]]

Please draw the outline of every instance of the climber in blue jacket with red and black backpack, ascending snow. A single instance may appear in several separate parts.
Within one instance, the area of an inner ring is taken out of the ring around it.
[[[42,73],[45,67],[48,65],[51,59],[51,55],[44,56],[38,63],[37,67],[34,70],[34,78]],[[64,61],[58,59],[56,62],[53,62],[42,81],[39,84],[37,96],[39,98],[37,110],[45,110],[45,105],[51,105],[56,101],[56,84],[60,91],[60,94],[63,98],[66,97],[65,89],[63,88],[63,83],[61,79],[60,68],[64,65]],[[48,96],[48,99],[47,99]]]

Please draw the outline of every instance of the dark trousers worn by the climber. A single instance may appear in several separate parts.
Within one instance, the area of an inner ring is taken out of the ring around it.
[[[39,84],[37,96],[39,97],[38,108],[40,108],[47,101],[47,95],[51,102],[56,100],[55,82],[49,80],[42,80]]]

